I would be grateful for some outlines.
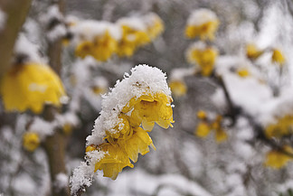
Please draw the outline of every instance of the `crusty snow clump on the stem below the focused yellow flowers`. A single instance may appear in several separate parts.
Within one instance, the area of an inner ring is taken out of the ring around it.
[[[78,191],[85,191],[92,183],[95,172],[95,164],[104,158],[105,152],[92,151],[87,154],[89,163],[80,162],[80,166],[73,170],[70,179],[71,195],[75,195]]]

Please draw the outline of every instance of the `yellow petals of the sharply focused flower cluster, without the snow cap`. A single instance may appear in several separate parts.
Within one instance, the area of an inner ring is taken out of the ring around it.
[[[130,160],[136,163],[138,154],[149,152],[148,145],[155,148],[147,132],[153,129],[155,123],[164,128],[172,126],[171,102],[172,98],[162,92],[131,98],[121,110],[118,125],[106,131],[105,142],[99,146],[89,145],[86,149],[86,152],[107,152],[96,163],[95,171],[102,170],[105,177],[115,180],[124,167],[133,167]]]

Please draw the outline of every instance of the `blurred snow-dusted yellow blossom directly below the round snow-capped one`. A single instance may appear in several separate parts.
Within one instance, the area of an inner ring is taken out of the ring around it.
[[[218,51],[212,47],[200,49],[192,46],[187,51],[187,61],[198,64],[203,76],[212,74],[217,56]]]

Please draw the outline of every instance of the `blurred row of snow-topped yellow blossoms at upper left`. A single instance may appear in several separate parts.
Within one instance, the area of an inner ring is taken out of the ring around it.
[[[97,61],[108,61],[113,54],[130,57],[139,47],[152,42],[164,31],[163,21],[154,13],[136,18],[122,18],[109,25],[115,26],[116,31],[121,33],[119,38],[114,38],[109,30],[99,32],[92,40],[82,38],[75,48],[75,55],[80,58],[90,55]]]

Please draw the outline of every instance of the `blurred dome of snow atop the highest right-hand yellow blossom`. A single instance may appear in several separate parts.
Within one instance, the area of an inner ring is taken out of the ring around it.
[[[201,8],[194,10],[194,12],[189,16],[187,20],[187,24],[189,25],[195,25],[199,26],[203,23],[208,23],[211,21],[217,21],[218,18],[216,14],[213,13],[213,11]]]

